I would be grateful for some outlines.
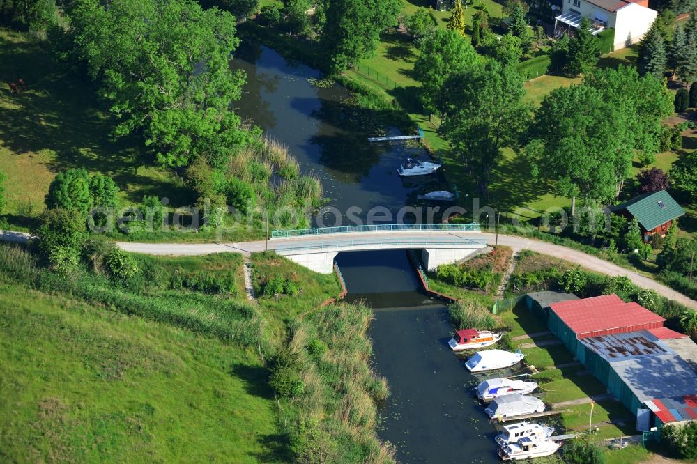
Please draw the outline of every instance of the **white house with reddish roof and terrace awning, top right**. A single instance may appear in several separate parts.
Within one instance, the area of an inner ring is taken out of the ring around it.
[[[593,33],[615,30],[615,50],[628,47],[643,38],[658,12],[648,8],[648,0],[562,0],[562,14],[555,18],[554,29],[578,29],[581,17],[589,17]]]

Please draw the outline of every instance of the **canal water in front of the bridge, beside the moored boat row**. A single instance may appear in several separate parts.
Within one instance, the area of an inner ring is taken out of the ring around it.
[[[374,309],[372,366],[390,388],[378,437],[404,463],[497,462],[495,428],[471,391],[478,381],[447,346],[447,307],[423,291],[406,252],[339,254],[337,264],[346,300]]]

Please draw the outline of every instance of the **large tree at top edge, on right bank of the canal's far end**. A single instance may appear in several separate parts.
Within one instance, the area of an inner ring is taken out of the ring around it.
[[[346,70],[372,54],[400,11],[401,0],[329,0],[320,40],[332,69]]]

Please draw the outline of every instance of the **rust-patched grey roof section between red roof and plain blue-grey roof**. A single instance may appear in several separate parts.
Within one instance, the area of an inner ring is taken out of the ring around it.
[[[647,330],[623,334],[586,337],[581,343],[608,362],[632,359],[638,356],[665,355],[673,353]]]

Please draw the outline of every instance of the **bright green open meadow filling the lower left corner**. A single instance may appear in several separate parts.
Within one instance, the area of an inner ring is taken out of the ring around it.
[[[0,314],[6,459],[286,461],[256,355],[20,284]]]

